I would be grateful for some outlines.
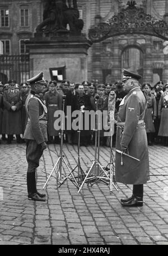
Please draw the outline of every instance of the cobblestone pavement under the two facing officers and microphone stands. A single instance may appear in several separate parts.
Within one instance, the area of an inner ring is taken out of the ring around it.
[[[64,144],[63,153],[73,169],[77,146]],[[46,202],[27,200],[25,145],[0,145],[0,244],[168,244],[168,147],[150,146],[149,153],[151,180],[144,185],[144,206],[123,208],[120,198],[132,193],[132,187],[123,184],[110,193],[102,181],[92,187],[85,183],[78,193],[70,179],[58,188],[54,172],[43,190],[58,160],[59,145],[49,145],[37,171],[38,189],[45,191]],[[100,155],[106,166],[110,148],[100,147]],[[83,170],[93,160],[94,146],[82,146]],[[66,165],[62,173],[69,174]]]

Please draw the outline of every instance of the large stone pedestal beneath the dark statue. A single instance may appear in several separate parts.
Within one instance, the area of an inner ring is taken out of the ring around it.
[[[66,67],[66,79],[73,82],[87,80],[87,50],[91,41],[81,33],[60,31],[58,35],[36,33],[27,43],[30,49],[30,76],[43,71],[50,81],[49,68]]]

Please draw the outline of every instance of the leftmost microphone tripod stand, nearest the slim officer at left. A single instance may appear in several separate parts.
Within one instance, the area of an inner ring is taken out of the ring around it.
[[[60,152],[59,152],[59,158],[58,158],[56,164],[54,165],[54,168],[53,168],[52,172],[50,173],[48,179],[46,180],[46,183],[44,184],[43,189],[45,188],[46,184],[48,183],[48,181],[49,181],[49,179],[50,179],[50,176],[52,176],[53,171],[55,170],[56,167],[57,167],[56,170],[57,170],[57,175],[58,175],[57,184],[58,184],[58,180],[60,180],[60,179],[66,179],[66,180],[67,180],[67,178],[69,178],[69,176],[72,175],[72,178],[74,179],[74,183],[76,183],[77,187],[79,187],[78,184],[77,184],[76,179],[75,179],[74,176],[73,176],[72,171],[69,169],[69,167],[68,167],[66,161],[64,160],[64,155],[63,155],[63,153],[62,153],[62,148],[63,148],[63,132],[64,132],[63,125],[64,125],[64,106],[65,106],[65,99],[66,99],[66,95],[63,95],[63,111],[62,111],[63,116],[62,116],[62,127],[61,127],[61,134],[60,134]],[[64,164],[67,166],[68,171],[69,171],[69,173],[70,173],[70,175],[69,175],[68,177],[66,177],[66,178],[62,178],[62,164],[63,164],[63,162],[64,162]],[[61,183],[60,185],[62,185],[62,184],[63,184],[63,183]],[[60,187],[60,185],[59,185],[59,187]]]

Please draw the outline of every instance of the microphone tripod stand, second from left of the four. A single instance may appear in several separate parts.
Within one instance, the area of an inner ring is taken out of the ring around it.
[[[70,179],[70,176],[72,175],[72,173],[77,169],[77,184],[78,184],[78,186],[76,186],[76,187],[78,187],[78,188],[80,188],[79,185],[81,185],[81,182],[83,181],[83,179],[86,176],[84,171],[82,170],[81,162],[80,162],[81,113],[82,113],[82,110],[80,110],[79,128],[78,128],[78,131],[77,131],[77,134],[78,134],[78,161],[77,161],[77,165],[74,167],[72,172],[64,179],[64,181],[60,184],[60,185],[62,185],[63,183],[66,182],[66,180],[68,178]],[[76,178],[76,176],[74,176],[74,178]],[[71,181],[73,182],[72,179],[71,179]],[[59,187],[60,187],[60,185],[59,185]],[[74,185],[76,185],[76,183]]]

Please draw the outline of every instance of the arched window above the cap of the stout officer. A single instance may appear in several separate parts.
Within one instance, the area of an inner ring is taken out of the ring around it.
[[[143,69],[143,53],[135,46],[127,47],[122,52],[122,68],[138,72]]]

